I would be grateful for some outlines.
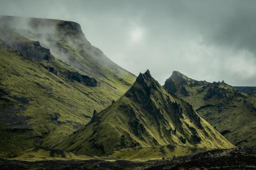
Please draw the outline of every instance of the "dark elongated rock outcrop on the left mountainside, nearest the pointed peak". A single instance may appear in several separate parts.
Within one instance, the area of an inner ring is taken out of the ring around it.
[[[81,75],[79,72],[66,71],[66,78],[72,81],[77,81],[86,86],[96,87],[100,85],[96,79]]]

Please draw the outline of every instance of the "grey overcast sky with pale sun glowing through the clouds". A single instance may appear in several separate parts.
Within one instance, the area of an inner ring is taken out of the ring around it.
[[[256,1],[11,1],[0,15],[72,20],[112,61],[161,84],[190,78],[256,86]]]

